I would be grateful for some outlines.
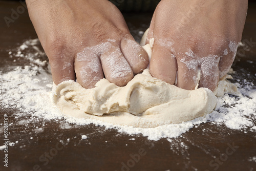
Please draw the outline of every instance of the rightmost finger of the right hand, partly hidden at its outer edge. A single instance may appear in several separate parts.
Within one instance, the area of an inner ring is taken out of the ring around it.
[[[234,58],[237,54],[238,44],[235,41],[231,41],[227,49],[224,50],[222,57],[220,58],[219,70],[220,78],[228,73],[230,70]]]

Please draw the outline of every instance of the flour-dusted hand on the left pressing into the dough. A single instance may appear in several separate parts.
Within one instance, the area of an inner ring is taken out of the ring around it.
[[[120,11],[107,0],[26,0],[55,84],[93,88],[105,77],[125,86],[148,66]]]

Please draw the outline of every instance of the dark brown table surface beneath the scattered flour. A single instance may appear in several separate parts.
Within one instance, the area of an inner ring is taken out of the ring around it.
[[[8,58],[9,50],[15,49],[26,39],[37,37],[27,11],[20,14],[15,22],[7,27],[4,16],[10,16],[11,9],[18,6],[18,1],[0,1],[2,72],[8,71],[8,66],[14,65],[13,59]],[[151,16],[151,13],[124,14],[137,40],[140,38],[138,31],[148,27]],[[253,3],[249,5],[242,39],[256,42],[256,5]],[[256,85],[255,45],[251,46],[249,51],[240,48],[239,52],[240,61],[233,66],[234,70],[249,73],[245,74],[247,79]],[[247,62],[248,59],[254,62]],[[23,63],[18,65],[22,66]],[[4,167],[4,152],[0,151],[0,170],[121,170],[122,162],[127,163],[131,159],[130,155],[138,154],[140,148],[144,149],[145,155],[141,156],[132,168],[123,170],[214,170],[217,166],[210,165],[210,162],[224,154],[228,144],[239,147],[225,162],[220,161],[216,170],[256,170],[256,162],[250,160],[256,156],[255,132],[247,131],[245,134],[241,130],[228,129],[225,125],[204,123],[193,127],[178,138],[173,138],[171,143],[165,138],[150,141],[141,135],[120,134],[114,129],[105,130],[104,127],[93,124],[79,126],[66,123],[69,127],[61,129],[60,125],[65,124],[63,119],[56,121],[38,118],[41,120],[38,127],[42,127],[44,132],[36,133],[33,131],[34,123],[16,124],[22,118],[16,119],[14,113],[13,109],[6,109],[3,106],[0,108],[0,123],[4,122],[4,114],[8,115],[9,124],[12,123],[9,126],[9,140],[18,140],[18,145],[9,146],[8,168]],[[256,119],[254,121],[256,123]],[[202,131],[203,129],[206,131]],[[81,135],[89,135],[89,138],[81,140]],[[3,145],[3,131],[0,137],[0,145]],[[181,142],[186,147],[181,145]],[[20,147],[21,145],[23,147]],[[52,148],[58,149],[57,154],[50,156],[46,164],[40,156],[47,155]]]

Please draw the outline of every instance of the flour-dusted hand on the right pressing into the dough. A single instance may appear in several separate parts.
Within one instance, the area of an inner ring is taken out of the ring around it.
[[[247,0],[162,0],[153,15],[150,72],[170,84],[214,91],[242,37]]]

